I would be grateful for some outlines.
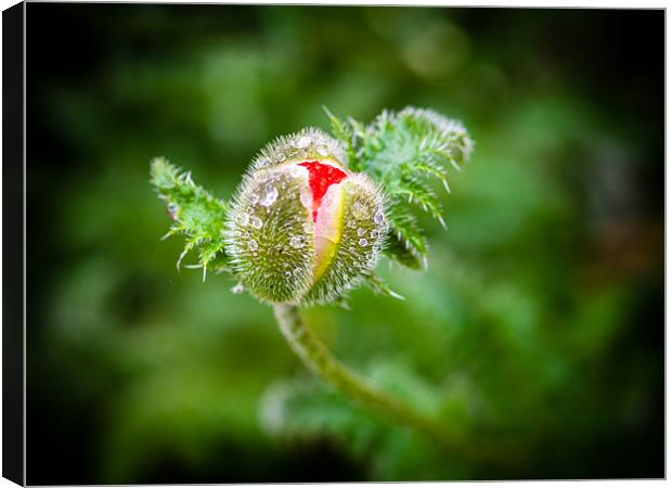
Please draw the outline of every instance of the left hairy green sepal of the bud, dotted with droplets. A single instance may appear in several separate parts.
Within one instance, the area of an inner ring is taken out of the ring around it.
[[[245,177],[227,221],[234,273],[264,303],[295,303],[312,283],[313,222],[301,201],[308,171],[296,165]]]

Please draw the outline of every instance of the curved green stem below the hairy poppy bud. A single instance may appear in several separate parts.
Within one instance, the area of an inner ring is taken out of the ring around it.
[[[280,330],[294,352],[310,370],[340,394],[374,412],[383,413],[395,422],[425,434],[449,449],[458,448],[455,435],[450,433],[444,424],[372,387],[364,378],[338,361],[318,335],[303,324],[297,307],[279,304],[274,306],[274,312]]]

